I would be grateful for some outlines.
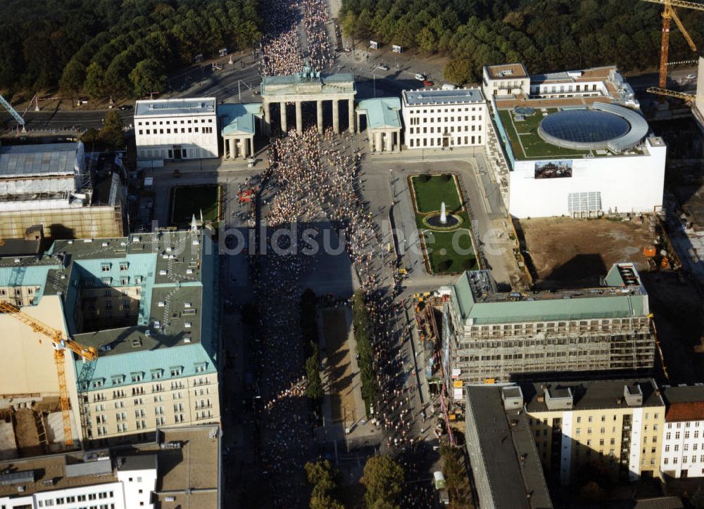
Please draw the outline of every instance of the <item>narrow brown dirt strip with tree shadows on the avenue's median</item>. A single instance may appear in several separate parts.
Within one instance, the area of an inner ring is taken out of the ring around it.
[[[326,376],[332,404],[332,420],[340,422],[345,416],[348,422],[354,417],[353,373],[350,349],[347,344],[348,328],[344,309],[322,311],[322,330],[325,337]]]

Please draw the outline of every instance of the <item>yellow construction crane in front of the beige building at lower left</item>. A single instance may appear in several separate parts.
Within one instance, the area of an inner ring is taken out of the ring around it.
[[[49,337],[54,345],[54,363],[56,363],[56,374],[58,375],[58,391],[59,401],[61,401],[61,414],[63,415],[63,437],[67,447],[73,446],[73,433],[71,432],[71,415],[68,404],[68,389],[66,387],[65,359],[64,353],[69,349],[74,354],[78,354],[87,361],[95,361],[98,359],[98,351],[93,347],[85,347],[73,340],[65,337],[60,330],[47,326],[40,322],[37,318],[30,316],[12,304],[0,301],[0,311],[8,314],[19,321],[26,323],[34,330],[35,333],[40,333]],[[41,342],[41,340],[40,340]]]

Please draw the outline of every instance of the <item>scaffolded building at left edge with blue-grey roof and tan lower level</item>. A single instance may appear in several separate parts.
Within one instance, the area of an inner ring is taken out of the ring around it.
[[[122,236],[122,189],[117,172],[94,186],[80,141],[0,147],[0,238]]]

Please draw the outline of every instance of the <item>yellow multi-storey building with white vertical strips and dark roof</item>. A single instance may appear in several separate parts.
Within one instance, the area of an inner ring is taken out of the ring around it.
[[[654,380],[521,387],[543,468],[555,480],[569,484],[594,462],[613,477],[659,475],[665,402]]]

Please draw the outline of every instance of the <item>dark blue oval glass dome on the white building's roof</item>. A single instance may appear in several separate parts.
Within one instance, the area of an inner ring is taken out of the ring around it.
[[[538,134],[553,145],[574,149],[596,149],[621,138],[631,130],[623,117],[598,110],[563,110],[543,118]]]

